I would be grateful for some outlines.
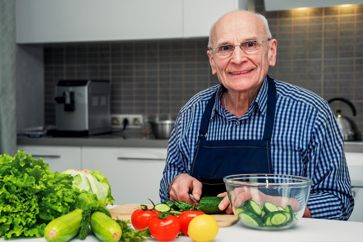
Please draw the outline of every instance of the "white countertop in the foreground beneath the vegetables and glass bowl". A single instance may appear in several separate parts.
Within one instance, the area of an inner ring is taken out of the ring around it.
[[[338,221],[302,218],[294,227],[280,231],[264,231],[245,227],[236,223],[230,227],[219,228],[217,237],[213,242],[247,242],[247,241],[363,241],[361,230],[362,222]],[[16,241],[46,242],[45,238],[12,239]],[[4,241],[0,238],[0,241]],[[100,242],[93,234],[89,234],[86,240],[78,238],[70,242]],[[148,241],[157,241],[150,239]],[[181,236],[172,241],[193,242],[189,236]]]

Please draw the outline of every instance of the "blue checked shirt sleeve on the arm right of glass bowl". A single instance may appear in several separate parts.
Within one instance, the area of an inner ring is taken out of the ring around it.
[[[353,210],[343,137],[327,104],[317,116],[309,144],[307,177],[313,185],[308,201],[313,218],[347,220]]]

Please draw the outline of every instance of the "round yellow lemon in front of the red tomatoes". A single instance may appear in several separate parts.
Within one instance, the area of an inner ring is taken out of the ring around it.
[[[190,221],[188,235],[194,241],[208,242],[213,240],[218,234],[217,221],[208,214],[199,215]]]

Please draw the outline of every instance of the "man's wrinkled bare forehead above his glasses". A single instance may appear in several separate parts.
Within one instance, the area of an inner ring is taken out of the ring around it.
[[[263,21],[251,13],[223,16],[214,26],[212,45],[238,44],[247,40],[265,38]]]

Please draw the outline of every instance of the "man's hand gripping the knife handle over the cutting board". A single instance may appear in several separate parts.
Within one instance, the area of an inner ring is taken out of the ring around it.
[[[169,185],[169,200],[171,202],[186,201],[194,204],[194,201],[189,197],[190,192],[199,201],[202,195],[202,183],[186,173],[178,174]]]

